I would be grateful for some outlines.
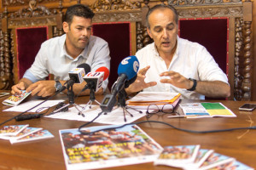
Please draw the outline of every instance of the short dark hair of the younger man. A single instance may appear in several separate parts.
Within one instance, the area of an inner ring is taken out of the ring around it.
[[[73,16],[79,16],[86,19],[92,19],[94,13],[90,10],[89,7],[83,4],[75,4],[67,8],[67,12],[65,14],[64,21],[69,25],[72,23]]]

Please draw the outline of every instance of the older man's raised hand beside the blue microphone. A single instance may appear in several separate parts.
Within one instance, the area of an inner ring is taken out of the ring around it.
[[[132,94],[132,93],[135,93],[135,92],[139,92],[141,90],[143,90],[144,88],[149,88],[149,87],[152,87],[152,86],[155,86],[156,85],[156,82],[148,82],[146,83],[144,80],[145,80],[145,75],[148,71],[148,69],[150,68],[150,66],[146,66],[145,68],[141,69],[138,71],[137,73],[137,79],[135,82],[133,82],[129,88],[126,88],[125,91],[127,94]]]

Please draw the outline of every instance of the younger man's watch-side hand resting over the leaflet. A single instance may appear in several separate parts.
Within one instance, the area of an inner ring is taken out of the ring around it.
[[[55,81],[38,81],[32,83],[28,88],[26,88],[26,92],[32,92],[32,95],[38,94],[38,96],[47,97],[55,94]]]

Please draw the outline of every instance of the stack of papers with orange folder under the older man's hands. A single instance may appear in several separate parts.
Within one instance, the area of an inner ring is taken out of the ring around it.
[[[181,98],[179,93],[168,92],[140,92],[132,99],[127,101],[127,105],[135,108],[147,110],[148,105],[158,105],[162,108],[163,105],[172,104],[175,107]]]

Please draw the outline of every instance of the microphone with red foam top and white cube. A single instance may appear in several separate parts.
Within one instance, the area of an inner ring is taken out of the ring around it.
[[[97,92],[101,87],[104,80],[106,80],[109,76],[108,68],[102,66],[98,68],[95,72],[89,72],[84,76],[84,81],[87,84],[82,89],[82,92],[88,88]]]

